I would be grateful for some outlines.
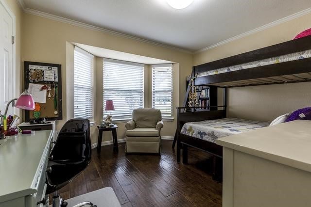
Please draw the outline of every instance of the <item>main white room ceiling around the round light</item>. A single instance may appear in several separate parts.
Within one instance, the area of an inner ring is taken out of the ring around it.
[[[311,8],[311,0],[22,0],[26,8],[196,51]]]

